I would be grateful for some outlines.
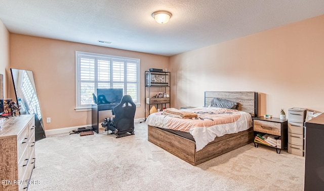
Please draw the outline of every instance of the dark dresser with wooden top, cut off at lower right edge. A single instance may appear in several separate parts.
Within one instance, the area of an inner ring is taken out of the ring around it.
[[[324,187],[324,113],[305,122],[305,190]]]

